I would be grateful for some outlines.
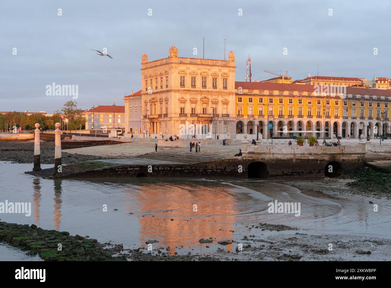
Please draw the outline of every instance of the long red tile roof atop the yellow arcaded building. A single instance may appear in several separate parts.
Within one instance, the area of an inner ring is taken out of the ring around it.
[[[273,91],[307,91],[315,92],[314,85],[299,85],[269,82],[235,82],[235,89],[273,90]],[[391,89],[353,88],[346,87],[348,94],[391,96]]]

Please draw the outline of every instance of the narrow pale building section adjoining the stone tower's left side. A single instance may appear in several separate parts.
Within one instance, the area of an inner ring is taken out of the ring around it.
[[[127,95],[125,100],[125,133],[142,134],[141,129],[141,90]]]

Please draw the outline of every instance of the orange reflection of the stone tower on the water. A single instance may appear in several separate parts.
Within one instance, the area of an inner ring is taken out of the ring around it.
[[[133,197],[129,201],[134,201]],[[213,185],[143,185],[137,194],[143,212],[138,218],[140,244],[145,246],[145,241],[157,239],[159,243],[153,248],[170,246],[170,253],[174,254],[176,246],[205,246],[198,242],[201,238],[232,239],[230,230],[234,228],[235,216],[231,215],[239,212],[235,210],[235,202],[235,197]],[[232,245],[226,249],[231,250]]]

